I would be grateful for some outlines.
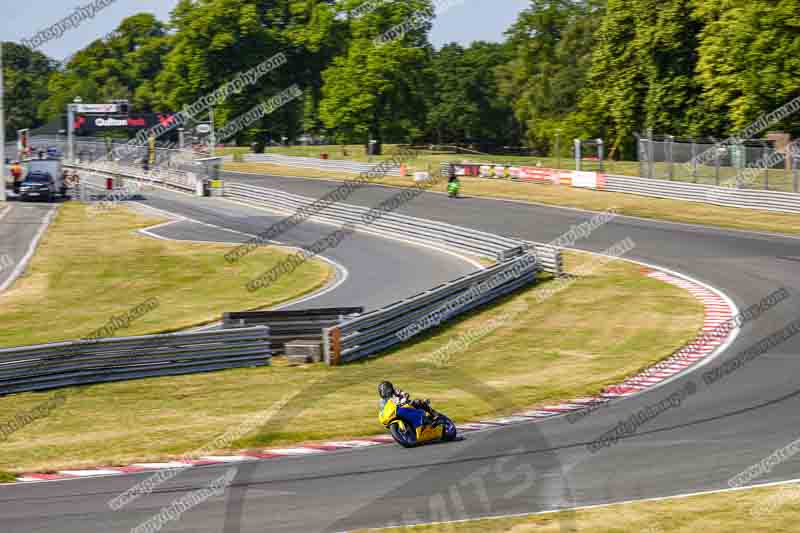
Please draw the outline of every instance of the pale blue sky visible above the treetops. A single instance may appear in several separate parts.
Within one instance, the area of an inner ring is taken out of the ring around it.
[[[63,59],[93,40],[111,32],[130,15],[149,12],[161,20],[177,0],[105,0],[108,7],[84,17],[77,28],[67,29],[57,39],[41,47],[53,59]],[[76,6],[89,5],[90,0],[0,0],[0,35],[5,41],[20,42],[39,31],[76,13]],[[529,5],[528,0],[446,0],[445,9],[434,22],[431,42],[441,46],[448,42],[468,45],[472,41],[501,41],[503,32],[517,15]]]

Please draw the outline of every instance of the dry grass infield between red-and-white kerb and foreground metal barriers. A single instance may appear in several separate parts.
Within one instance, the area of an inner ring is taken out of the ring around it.
[[[567,257],[569,269],[589,261],[595,259]],[[259,430],[214,451],[372,435],[383,429],[375,392],[383,379],[431,398],[456,420],[507,414],[596,393],[672,353],[702,323],[699,302],[629,263],[610,263],[540,303],[548,288],[544,282],[357,364],[290,368],[277,362],[84,387],[49,417],[0,443],[0,469],[177,457],[255,417],[264,423],[255,426]],[[466,346],[450,345],[475,332],[482,335]],[[486,387],[496,397],[489,398]],[[2,398],[0,412],[27,411],[53,394]]]

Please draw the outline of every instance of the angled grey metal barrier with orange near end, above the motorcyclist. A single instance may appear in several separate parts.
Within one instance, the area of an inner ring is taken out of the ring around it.
[[[339,365],[378,354],[407,340],[402,333],[410,326],[430,324],[431,316],[448,303],[463,301],[468,293],[474,295],[452,314],[439,317],[442,322],[535,283],[540,268],[534,257],[526,254],[327,328],[323,336],[325,362]],[[493,280],[495,283],[491,283]],[[478,289],[482,286],[490,288],[481,292]],[[421,331],[424,329],[427,327],[421,326]]]

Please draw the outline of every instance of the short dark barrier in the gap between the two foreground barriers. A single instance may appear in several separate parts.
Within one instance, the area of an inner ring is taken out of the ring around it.
[[[302,311],[243,311],[225,313],[223,327],[243,328],[268,326],[275,355],[285,354],[285,345],[294,341],[318,342],[322,345],[322,330],[360,315],[363,307],[305,309]]]

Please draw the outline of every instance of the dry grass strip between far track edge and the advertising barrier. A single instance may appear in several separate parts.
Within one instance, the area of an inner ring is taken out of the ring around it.
[[[253,174],[275,174],[334,180],[353,177],[343,173],[264,163],[226,163],[225,169]],[[433,170],[438,171],[438,167]],[[385,177],[379,183],[398,187],[410,187],[413,185],[411,178],[407,177]],[[522,200],[555,206],[577,207],[592,211],[604,211],[611,207],[616,207],[620,214],[643,218],[703,224],[730,229],[800,234],[800,217],[789,213],[720,207],[696,202],[648,198],[633,194],[591,191],[557,185],[517,183],[501,179],[464,177],[461,179],[461,184],[462,194],[466,196]],[[446,187],[447,184],[442,183],[431,190],[445,192]]]

